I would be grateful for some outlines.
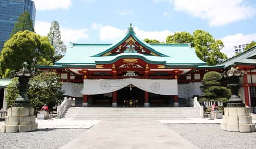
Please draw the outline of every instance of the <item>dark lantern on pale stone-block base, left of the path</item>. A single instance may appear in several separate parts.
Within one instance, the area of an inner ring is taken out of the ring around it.
[[[5,117],[5,124],[2,125],[1,132],[28,132],[38,128],[38,123],[35,122],[34,108],[30,106],[27,97],[28,82],[31,76],[27,66],[28,64],[24,62],[23,68],[17,73],[19,95],[14,105],[8,109],[8,116]]]

